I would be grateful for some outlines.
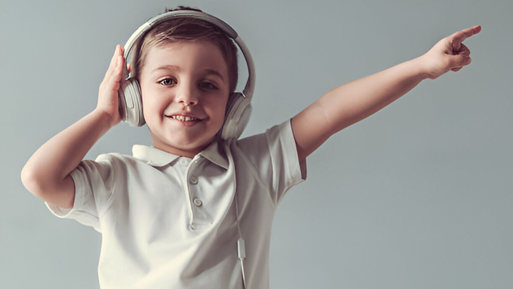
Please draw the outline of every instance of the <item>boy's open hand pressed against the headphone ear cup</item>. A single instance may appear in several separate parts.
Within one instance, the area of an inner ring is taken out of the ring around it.
[[[110,65],[105,73],[105,77],[100,84],[100,89],[98,91],[98,104],[95,109],[109,114],[112,119],[112,126],[121,122],[117,90],[120,88],[123,65],[125,65],[123,48],[118,44],[116,45],[116,50],[110,60]],[[127,69],[130,71],[130,64],[127,66]]]

